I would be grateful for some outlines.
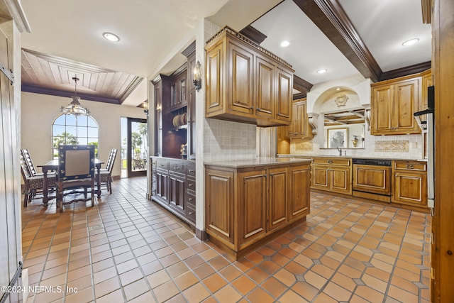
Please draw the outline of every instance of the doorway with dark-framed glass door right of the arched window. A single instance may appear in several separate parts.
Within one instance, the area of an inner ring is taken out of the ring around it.
[[[147,175],[147,120],[121,118],[121,177]]]

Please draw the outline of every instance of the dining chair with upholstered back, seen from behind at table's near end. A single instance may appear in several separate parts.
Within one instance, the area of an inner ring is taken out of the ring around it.
[[[60,207],[60,212],[64,204],[74,202],[91,200],[94,206],[94,166],[94,145],[58,145],[57,207]],[[90,197],[87,197],[88,189]],[[75,194],[74,199],[63,202],[69,194]],[[79,197],[79,194],[84,194],[84,197]]]

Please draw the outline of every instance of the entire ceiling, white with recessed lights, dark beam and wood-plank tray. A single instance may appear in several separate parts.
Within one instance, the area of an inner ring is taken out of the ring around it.
[[[423,4],[430,0],[422,0]],[[202,20],[253,26],[293,65],[300,91],[361,74],[377,81],[430,67],[431,26],[415,0],[23,0],[23,90],[136,106],[145,78],[170,74]],[[426,6],[422,6],[427,7]],[[102,33],[120,36],[111,43]],[[410,38],[419,43],[403,47]],[[280,47],[289,40],[287,48]],[[177,58],[177,60],[175,60]],[[168,62],[168,64],[166,64]],[[326,69],[324,74],[316,71]]]

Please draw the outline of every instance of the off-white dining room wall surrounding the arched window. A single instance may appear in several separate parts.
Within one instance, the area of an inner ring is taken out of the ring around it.
[[[27,148],[38,165],[52,159],[52,123],[60,115],[60,107],[72,99],[28,92],[22,92],[21,97],[21,148]],[[99,159],[106,161],[111,148],[117,148],[112,175],[121,175],[121,117],[145,119],[143,109],[84,99],[80,103],[98,123]]]

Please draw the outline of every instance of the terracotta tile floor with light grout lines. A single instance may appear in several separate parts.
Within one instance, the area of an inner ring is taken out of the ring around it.
[[[231,262],[145,188],[23,209],[29,283],[63,290],[27,302],[429,302],[429,215],[312,193],[306,223]]]

